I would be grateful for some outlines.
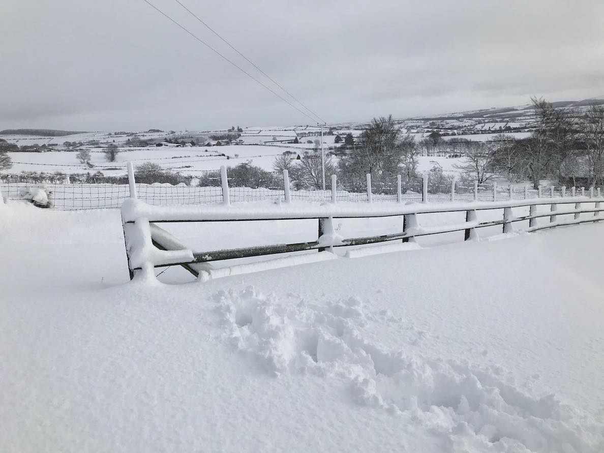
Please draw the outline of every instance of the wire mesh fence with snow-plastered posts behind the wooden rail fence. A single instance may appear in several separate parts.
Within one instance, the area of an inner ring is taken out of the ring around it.
[[[129,167],[131,165],[129,164]],[[223,167],[224,168],[224,167]],[[129,173],[130,182],[134,175]],[[428,175],[423,175],[419,181],[403,185],[400,175],[396,185],[389,188],[391,193],[373,193],[371,178],[367,177],[367,190],[363,193],[353,193],[339,190],[335,175],[330,190],[294,190],[289,183],[287,172],[283,175],[283,185],[271,188],[231,187],[224,170],[220,173],[221,187],[190,187],[184,183],[172,184],[139,184],[133,182],[137,189],[138,199],[151,205],[212,205],[230,202],[250,202],[275,200],[288,202],[291,200],[313,202],[430,202],[444,203],[452,201],[501,201],[532,198],[556,198],[567,195],[600,196],[600,188],[565,188],[539,187],[538,190],[529,187],[501,186],[497,184],[478,184],[478,182],[452,181],[451,184],[432,184]],[[225,185],[227,190],[225,190]],[[0,175],[0,191],[8,199],[24,199],[32,188],[43,188],[48,193],[52,207],[63,210],[119,208],[129,197],[129,184],[62,184],[11,182],[11,178]]]

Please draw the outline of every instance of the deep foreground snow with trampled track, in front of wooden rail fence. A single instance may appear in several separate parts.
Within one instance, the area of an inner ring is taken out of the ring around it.
[[[604,451],[603,234],[122,284],[117,211],[0,206],[0,451]]]

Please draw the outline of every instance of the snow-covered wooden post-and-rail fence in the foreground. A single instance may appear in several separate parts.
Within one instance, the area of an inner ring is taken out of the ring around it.
[[[332,259],[336,255],[333,249],[344,246],[368,245],[387,241],[410,242],[416,237],[439,233],[464,231],[464,240],[478,239],[478,228],[501,225],[503,233],[513,232],[513,223],[528,220],[528,229],[536,231],[543,228],[553,228],[561,225],[575,225],[585,222],[604,220],[600,214],[604,211],[601,203],[604,198],[588,199],[584,196],[571,198],[560,197],[550,199],[515,200],[491,202],[452,202],[451,204],[338,204],[336,199],[330,203],[319,205],[295,204],[287,201],[284,204],[240,204],[230,206],[228,186],[223,186],[225,201],[222,205],[207,206],[154,206],[137,199],[136,187],[130,187],[131,198],[121,208],[126,242],[126,255],[130,279],[140,274],[144,280],[154,279],[154,268],[179,265],[187,269],[195,277],[202,280],[219,275],[230,275],[229,269],[212,269],[208,263],[256,257],[262,255],[284,254],[300,251],[317,250],[327,252],[321,254],[321,259]],[[564,193],[564,191],[563,191]],[[371,193],[368,191],[371,199]],[[582,207],[589,204],[590,207]],[[538,207],[547,207],[547,211],[539,211]],[[593,207],[592,207],[593,206]],[[517,216],[513,208],[529,207],[528,214]],[[559,209],[559,207],[569,207]],[[477,211],[501,210],[503,218],[499,220],[480,221]],[[466,220],[461,223],[422,226],[418,214],[457,213],[465,212]],[[573,215],[571,220],[561,220],[559,216]],[[591,214],[581,216],[581,214]],[[369,219],[372,217],[402,217],[399,233],[382,234],[379,236],[342,237],[334,228],[333,219]],[[549,217],[546,223],[538,219]],[[170,222],[239,222],[249,220],[317,220],[317,239],[300,243],[277,243],[272,245],[251,246],[245,248],[215,249],[193,251],[179,239],[165,231],[158,224]],[[331,252],[331,253],[329,253]],[[298,260],[306,259],[297,257]],[[316,255],[315,255],[316,256]],[[257,263],[256,263],[257,265]],[[266,263],[264,268],[268,268]]]

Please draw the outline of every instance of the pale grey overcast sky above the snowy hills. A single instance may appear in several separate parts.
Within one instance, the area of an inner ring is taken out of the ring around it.
[[[604,97],[602,0],[181,2],[327,123]],[[0,24],[0,129],[313,124],[143,0],[2,0]]]

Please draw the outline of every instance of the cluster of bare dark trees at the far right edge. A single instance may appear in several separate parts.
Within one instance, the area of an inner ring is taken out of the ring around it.
[[[535,128],[529,137],[496,135],[489,143],[461,143],[465,161],[457,169],[478,182],[501,175],[530,181],[535,188],[542,179],[604,184],[604,106],[593,104],[577,113],[543,99],[532,101]]]

